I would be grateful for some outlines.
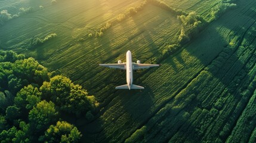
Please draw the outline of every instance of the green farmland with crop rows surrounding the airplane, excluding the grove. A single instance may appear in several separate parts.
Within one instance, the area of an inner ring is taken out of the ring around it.
[[[0,26],[0,48],[94,95],[93,120],[64,117],[81,142],[255,142],[256,2],[162,2],[0,1],[17,14]],[[98,66],[128,50],[162,65],[134,73],[143,91],[115,90],[125,72]]]

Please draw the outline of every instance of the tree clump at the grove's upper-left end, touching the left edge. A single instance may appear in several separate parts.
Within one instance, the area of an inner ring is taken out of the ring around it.
[[[49,80],[48,70],[33,58],[24,59],[23,54],[13,51],[0,51],[0,56],[4,57],[0,62],[0,91],[8,90],[16,95],[23,86],[42,85],[44,80]]]

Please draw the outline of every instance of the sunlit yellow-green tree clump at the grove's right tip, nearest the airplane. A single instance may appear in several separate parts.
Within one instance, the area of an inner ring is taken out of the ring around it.
[[[51,100],[62,110],[77,115],[95,108],[95,98],[88,96],[82,86],[74,85],[64,76],[54,76],[50,82],[44,82],[40,90],[42,98]]]

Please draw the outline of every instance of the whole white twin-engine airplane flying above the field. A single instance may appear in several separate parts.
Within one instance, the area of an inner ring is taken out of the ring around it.
[[[132,63],[131,51],[127,51],[127,62],[122,63],[118,60],[118,64],[100,64],[103,67],[110,67],[115,69],[122,69],[127,71],[127,85],[116,86],[116,89],[144,89],[142,86],[133,85],[132,70],[147,69],[149,67],[158,67],[159,64],[141,64],[140,60],[137,63]]]

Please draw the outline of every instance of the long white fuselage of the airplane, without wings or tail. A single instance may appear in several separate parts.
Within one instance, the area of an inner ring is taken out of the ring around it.
[[[126,70],[127,70],[127,85],[128,85],[128,88],[131,89],[131,85],[133,81],[131,51],[127,51]]]

